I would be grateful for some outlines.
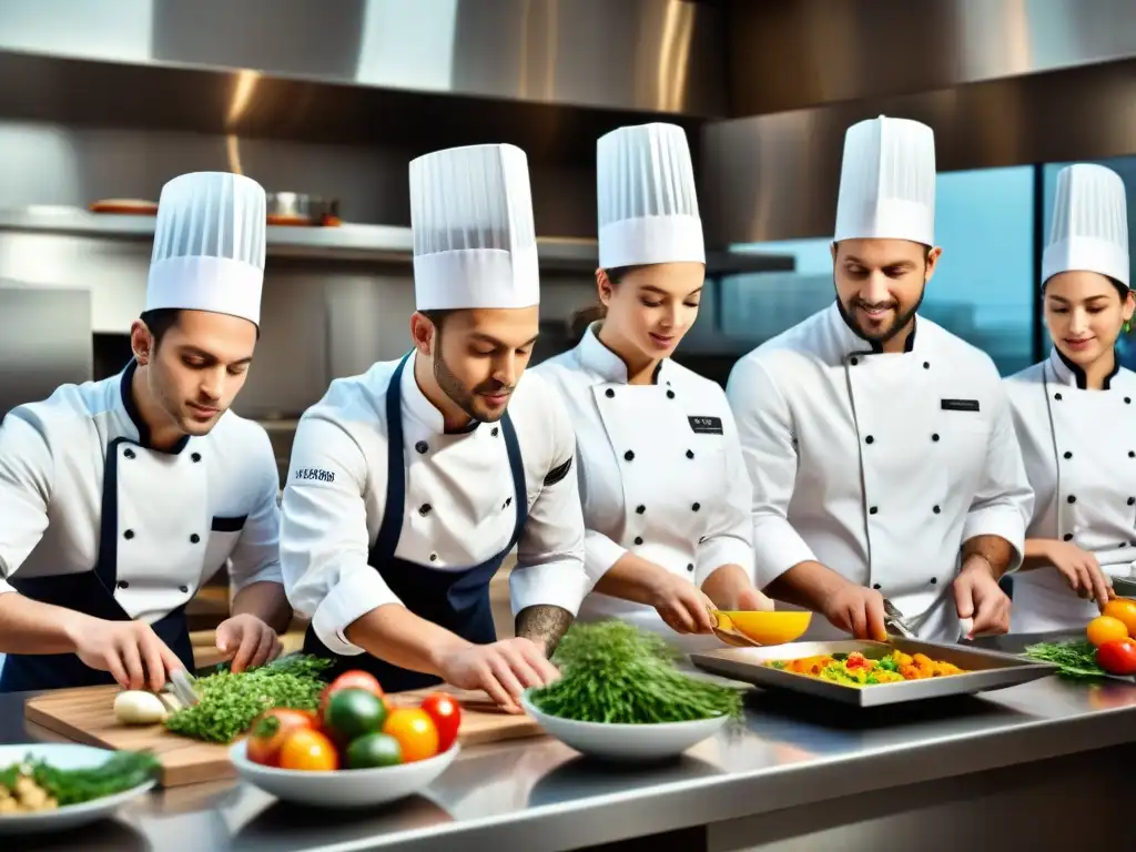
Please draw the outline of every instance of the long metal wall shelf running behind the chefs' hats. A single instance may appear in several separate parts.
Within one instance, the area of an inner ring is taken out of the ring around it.
[[[76,207],[0,208],[0,232],[142,241],[152,239],[153,229],[153,216],[93,214]],[[545,269],[591,274],[599,258],[595,240],[537,237],[536,245],[541,266]],[[356,224],[335,227],[269,225],[267,229],[268,257],[409,264],[412,252],[414,240],[409,227]],[[792,269],[793,258],[710,251],[707,253],[707,268],[711,275]]]

